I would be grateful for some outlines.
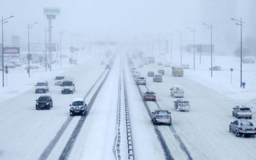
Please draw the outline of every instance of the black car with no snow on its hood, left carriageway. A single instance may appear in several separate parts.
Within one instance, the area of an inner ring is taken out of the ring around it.
[[[40,96],[36,100],[36,110],[47,109],[49,110],[53,106],[51,96]]]

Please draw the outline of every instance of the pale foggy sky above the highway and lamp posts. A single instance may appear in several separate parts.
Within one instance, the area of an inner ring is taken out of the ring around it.
[[[221,51],[234,50],[240,40],[240,29],[230,18],[246,22],[243,36],[255,33],[255,2],[253,0],[73,0],[33,1],[9,0],[0,2],[0,15],[15,17],[5,24],[6,44],[11,44],[11,35],[19,35],[22,45],[27,43],[28,23],[38,22],[31,29],[31,42],[44,42],[44,28],[48,27],[44,7],[59,7],[60,15],[53,20],[53,42],[59,42],[59,32],[67,30],[63,42],[71,43],[71,35],[90,35],[97,40],[147,41],[165,38],[172,33],[174,46],[179,44],[183,32],[184,44],[192,43],[192,33],[187,27],[196,29],[196,43],[209,44],[210,33],[202,23],[212,23],[213,43]]]

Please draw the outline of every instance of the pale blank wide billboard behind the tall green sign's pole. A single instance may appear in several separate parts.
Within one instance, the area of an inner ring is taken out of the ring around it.
[[[58,51],[59,44],[30,44],[30,51]]]

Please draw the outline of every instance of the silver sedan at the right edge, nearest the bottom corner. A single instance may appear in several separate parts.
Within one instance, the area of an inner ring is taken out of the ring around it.
[[[235,120],[229,124],[229,132],[234,132],[237,137],[241,135],[254,136],[256,128],[248,120]]]

